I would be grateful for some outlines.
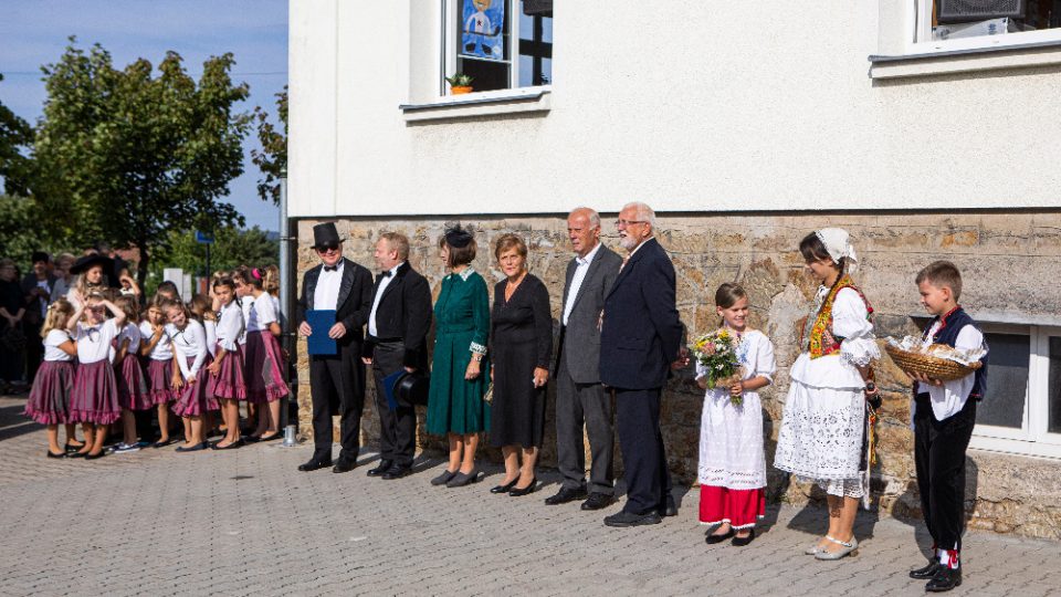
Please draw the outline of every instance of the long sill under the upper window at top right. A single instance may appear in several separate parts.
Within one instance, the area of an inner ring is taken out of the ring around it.
[[[994,48],[869,56],[870,78],[901,78],[1061,64],[1061,40]]]

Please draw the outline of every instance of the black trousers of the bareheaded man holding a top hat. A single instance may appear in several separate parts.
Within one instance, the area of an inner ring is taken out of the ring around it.
[[[401,342],[377,344],[372,350],[376,378],[376,411],[379,413],[379,458],[398,467],[412,467],[417,449],[417,412],[412,406],[391,410],[387,405],[384,378],[402,368],[406,345]]]

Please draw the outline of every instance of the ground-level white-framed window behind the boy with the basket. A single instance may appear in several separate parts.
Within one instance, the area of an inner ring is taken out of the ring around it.
[[[1061,327],[985,325],[987,389],[971,447],[1061,458]]]

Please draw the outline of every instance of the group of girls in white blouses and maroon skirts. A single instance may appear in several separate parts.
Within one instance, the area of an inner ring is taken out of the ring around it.
[[[178,452],[280,438],[280,399],[288,389],[277,342],[277,277],[275,266],[218,272],[210,295],[188,302],[164,282],[143,311],[135,296],[84,285],[52,302],[41,332],[44,363],[25,406],[27,416],[48,426],[48,458],[102,458],[112,431],[122,441],[109,452],[169,446],[176,441],[170,412],[183,422]],[[240,402],[256,419],[246,436]],[[151,410],[159,437],[141,441],[137,412]],[[211,444],[216,423],[223,437]],[[65,446],[59,426],[65,426]]]

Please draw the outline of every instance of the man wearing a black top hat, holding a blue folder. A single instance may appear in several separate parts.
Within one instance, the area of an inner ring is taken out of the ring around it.
[[[339,460],[332,472],[348,472],[357,465],[361,409],[365,406],[365,365],[360,362],[364,332],[372,301],[372,274],[343,256],[343,239],[334,222],[313,227],[313,249],[321,264],[302,279],[296,317],[298,333],[327,334],[335,339],[335,355],[309,356],[309,391],[313,397],[313,458],[298,467],[315,471],[332,465],[332,417],[339,415]],[[306,311],[335,310],[335,324],[314,329]]]

